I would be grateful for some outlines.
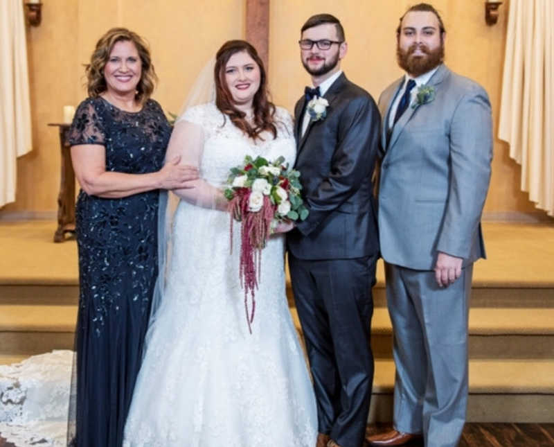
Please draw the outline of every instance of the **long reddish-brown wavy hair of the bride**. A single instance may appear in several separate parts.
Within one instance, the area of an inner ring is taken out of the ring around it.
[[[246,51],[260,68],[260,87],[253,98],[253,124],[251,125],[246,114],[241,112],[233,104],[233,96],[225,80],[225,67],[231,56],[235,53]],[[274,125],[275,105],[271,103],[267,93],[267,77],[264,64],[258,56],[258,51],[245,40],[229,40],[225,42],[215,55],[215,105],[224,114],[229,116],[231,122],[252,139],[262,139],[260,134],[269,131],[273,137],[277,137],[277,128]]]

